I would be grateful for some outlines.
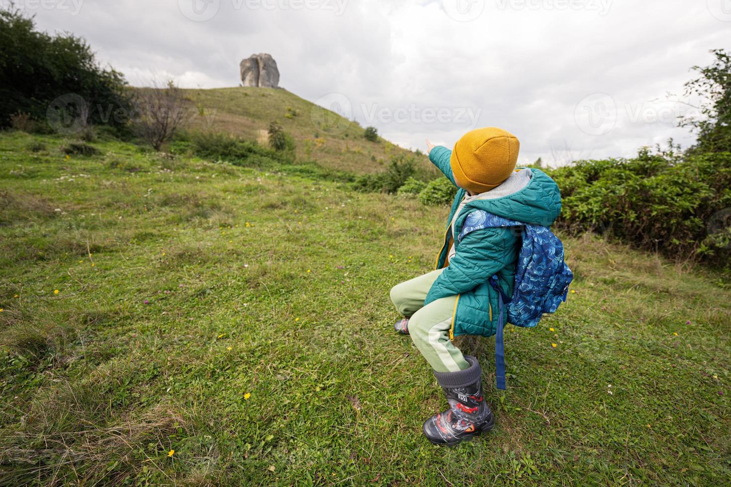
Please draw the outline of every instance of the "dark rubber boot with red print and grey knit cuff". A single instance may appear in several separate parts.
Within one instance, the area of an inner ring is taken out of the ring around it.
[[[482,396],[482,369],[477,358],[465,356],[469,369],[459,372],[434,372],[447,395],[450,408],[424,422],[425,437],[436,445],[457,445],[493,429],[493,412]]]

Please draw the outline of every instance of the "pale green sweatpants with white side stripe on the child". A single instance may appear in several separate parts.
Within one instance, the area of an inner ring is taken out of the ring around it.
[[[391,301],[398,312],[409,318],[409,334],[431,368],[436,372],[458,372],[470,366],[449,336],[457,296],[437,299],[424,306],[426,294],[443,270],[393,286]]]

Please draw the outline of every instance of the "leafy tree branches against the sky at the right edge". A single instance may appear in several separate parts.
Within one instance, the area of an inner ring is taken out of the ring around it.
[[[700,96],[700,117],[683,117],[680,126],[697,132],[691,153],[731,152],[731,55],[713,49],[716,60],[710,66],[693,66],[700,77],[685,84],[686,96]]]

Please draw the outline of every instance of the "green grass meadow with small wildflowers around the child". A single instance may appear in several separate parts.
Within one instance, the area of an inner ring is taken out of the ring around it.
[[[493,340],[458,339],[496,429],[439,448],[388,291],[431,269],[446,207],[68,142],[0,134],[1,485],[730,482],[711,272],[565,237],[575,293],[508,326],[507,391]]]

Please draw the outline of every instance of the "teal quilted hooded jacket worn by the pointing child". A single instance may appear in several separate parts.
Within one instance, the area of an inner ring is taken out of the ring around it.
[[[429,153],[429,159],[454,184],[450,167],[451,154],[447,147],[434,147]],[[532,173],[526,187],[501,198],[469,202],[455,221],[455,234],[460,234],[467,215],[475,210],[484,210],[522,223],[550,226],[561,211],[558,185],[539,169],[523,170]],[[450,338],[463,334],[489,337],[497,330],[499,307],[498,291],[492,288],[488,279],[497,275],[504,293],[512,296],[515,266],[520,250],[520,231],[505,227],[471,231],[455,242],[456,254],[447,262],[452,243],[452,218],[465,194],[463,189],[459,189],[452,203],[444,245],[436,258],[436,269],[444,266],[447,268],[434,281],[424,304],[457,294]],[[507,320],[507,316],[504,315],[503,318]]]

